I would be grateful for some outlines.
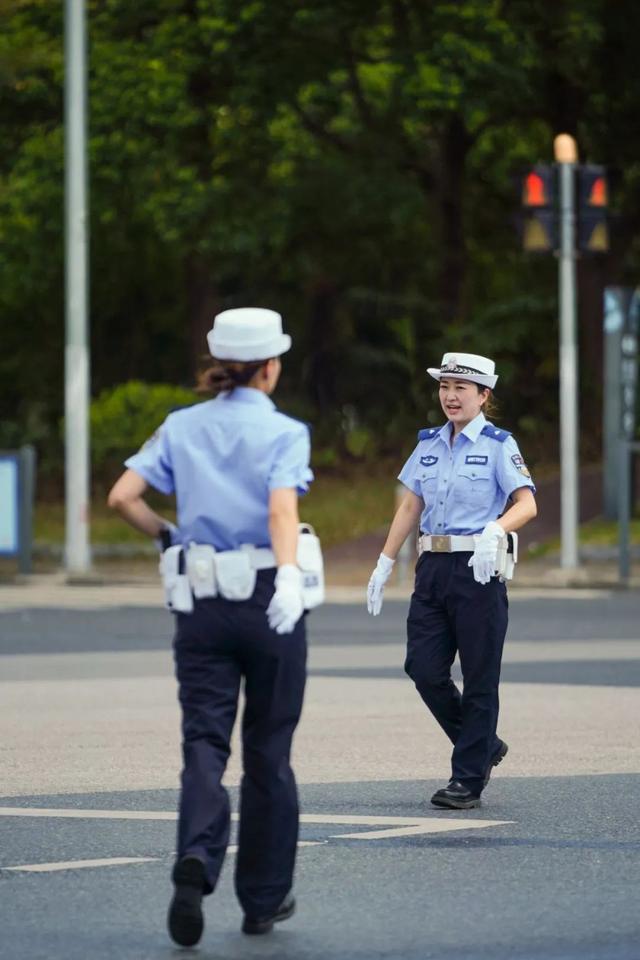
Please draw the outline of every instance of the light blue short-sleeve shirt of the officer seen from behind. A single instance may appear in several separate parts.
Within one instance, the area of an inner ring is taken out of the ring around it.
[[[169,414],[125,466],[175,493],[183,543],[233,550],[269,546],[269,494],[306,493],[313,480],[306,424],[276,410],[261,390],[236,387]]]

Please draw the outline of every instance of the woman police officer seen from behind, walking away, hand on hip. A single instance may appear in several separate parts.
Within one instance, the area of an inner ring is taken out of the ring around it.
[[[313,479],[309,432],[269,399],[291,338],[279,314],[247,308],[218,314],[207,339],[216,363],[204,383],[218,396],[171,413],[109,495],[132,526],[178,544],[161,568],[178,611],[184,767],[168,924],[183,946],[200,939],[202,896],[216,885],[229,840],[221,778],[242,677],[242,929],[266,933],[294,911],[298,801],[289,754],[306,662],[296,545],[298,493]],[[145,503],[147,485],[175,492],[177,529]]]

